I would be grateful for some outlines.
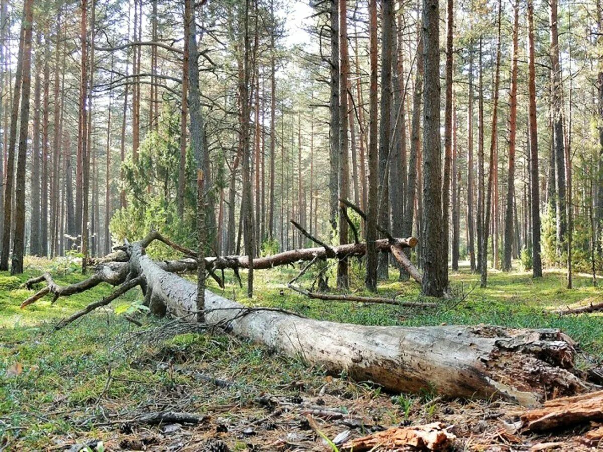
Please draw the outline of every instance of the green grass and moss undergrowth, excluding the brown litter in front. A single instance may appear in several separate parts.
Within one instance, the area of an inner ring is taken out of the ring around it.
[[[379,286],[380,296],[441,304],[438,309],[409,309],[309,300],[286,286],[300,271],[296,267],[256,271],[253,299],[245,298],[245,290],[229,272],[225,290],[213,281],[208,284],[210,290],[248,306],[280,307],[335,322],[561,328],[583,350],[603,357],[603,316],[552,312],[574,304],[603,302],[601,289],[593,287],[586,276],[576,276],[575,289],[567,290],[564,274],[557,271],[546,272],[540,280],[524,272],[490,272],[489,287],[480,289],[478,275],[462,268],[450,275],[452,297],[441,301],[421,298],[418,284],[398,281],[396,270],[391,269],[390,279]],[[166,408],[204,413],[224,406],[227,409],[222,415],[232,416],[237,407],[256,404],[262,394],[293,397],[324,384],[323,369],[309,368],[301,357],[285,358],[260,345],[153,318],[145,312],[134,313],[143,324],[137,327],[125,315],[131,314],[128,307],[140,301],[137,289],[111,307],[55,332],[60,319],[99,300],[112,288],[98,286],[60,298],[55,304],[45,297],[19,309],[34,293],[22,284],[43,271],[51,272],[58,284],[84,278],[74,260],[30,259],[24,275],[0,272],[0,449],[44,450],[60,444],[66,435],[107,439],[110,430],[100,428],[99,423],[108,415],[128,419],[135,413]],[[361,289],[361,275],[362,269],[354,263],[351,290],[368,295]],[[244,283],[246,276],[242,272]],[[309,271],[296,284],[310,289],[315,276],[316,272]],[[233,385],[216,387],[208,378]],[[346,379],[341,384],[350,397],[360,391]],[[402,419],[404,410],[400,410],[396,416]]]

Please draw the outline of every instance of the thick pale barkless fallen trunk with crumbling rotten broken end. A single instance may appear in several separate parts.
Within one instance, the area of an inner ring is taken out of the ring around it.
[[[145,254],[154,239],[151,233],[127,246],[128,278],[144,279],[140,286],[151,312],[195,322],[197,284]],[[204,314],[207,325],[395,392],[500,397],[532,406],[553,394],[587,389],[571,372],[574,344],[558,330],[339,324],[245,307],[209,290]]]

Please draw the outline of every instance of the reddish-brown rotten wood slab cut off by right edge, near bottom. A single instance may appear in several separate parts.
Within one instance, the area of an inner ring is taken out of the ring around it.
[[[559,427],[603,421],[603,391],[549,400],[522,415],[523,429],[543,432]]]

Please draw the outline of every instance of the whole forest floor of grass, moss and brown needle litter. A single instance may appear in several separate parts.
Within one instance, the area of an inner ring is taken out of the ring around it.
[[[54,332],[65,316],[110,291],[19,304],[31,293],[21,284],[49,271],[57,283],[81,280],[77,263],[29,259],[26,274],[0,273],[0,451],[3,450],[157,450],[230,451],[334,450],[308,424],[314,416],[321,433],[354,437],[394,425],[440,421],[453,426],[456,450],[530,450],[535,444],[561,442],[558,450],[592,450],[581,443],[582,426],[531,436],[510,425],[522,409],[499,401],[444,401],[431,391],[420,395],[386,394],[371,383],[346,375],[331,377],[307,366],[303,357],[285,358],[266,347],[217,331],[203,331],[169,319],[137,312],[131,291],[107,309],[84,316]],[[276,306],[338,322],[371,325],[495,324],[560,328],[581,349],[603,360],[603,316],[559,316],[567,306],[603,302],[592,280],[576,276],[565,289],[561,271],[541,280],[528,272],[490,272],[489,287],[463,267],[451,274],[453,297],[436,310],[308,300],[286,288],[298,269],[256,272],[256,297],[245,300],[227,275],[227,289],[212,290],[245,304]],[[352,266],[352,282],[362,271]],[[242,275],[245,280],[245,274]],[[301,284],[311,284],[311,274]],[[601,281],[603,284],[603,281]],[[601,284],[600,284],[601,285]],[[397,281],[396,271],[380,284],[382,295],[416,300],[413,281]],[[579,363],[584,365],[584,363]],[[148,425],[140,416],[172,410],[203,416],[197,425]],[[86,449],[89,447],[89,449]],[[532,449],[534,450],[534,449]]]

